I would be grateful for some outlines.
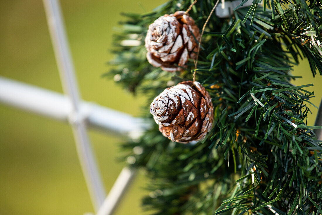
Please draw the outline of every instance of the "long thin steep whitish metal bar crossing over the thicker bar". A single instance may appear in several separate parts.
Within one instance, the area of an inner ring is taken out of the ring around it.
[[[94,209],[97,211],[105,199],[105,189],[90,146],[84,117],[80,111],[80,95],[60,5],[57,0],[43,0],[43,3],[63,90],[71,100],[72,115],[70,116],[70,123],[73,128],[78,157]]]

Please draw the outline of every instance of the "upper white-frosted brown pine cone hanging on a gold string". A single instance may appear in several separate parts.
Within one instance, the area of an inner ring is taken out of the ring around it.
[[[195,59],[200,32],[184,11],[159,17],[149,26],[145,38],[147,60],[164,71],[182,71],[188,58]],[[197,41],[196,41],[197,40]]]

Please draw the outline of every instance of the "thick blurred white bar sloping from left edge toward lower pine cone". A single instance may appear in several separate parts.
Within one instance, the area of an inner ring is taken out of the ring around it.
[[[1,76],[0,103],[65,122],[71,115],[71,101],[67,96]],[[141,118],[93,102],[81,101],[80,112],[91,128],[116,135],[140,136],[151,127]]]

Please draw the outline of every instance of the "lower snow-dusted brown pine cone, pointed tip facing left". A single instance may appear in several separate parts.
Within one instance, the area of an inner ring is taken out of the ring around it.
[[[162,134],[179,143],[201,140],[212,127],[213,103],[197,81],[166,88],[153,100],[150,112]]]

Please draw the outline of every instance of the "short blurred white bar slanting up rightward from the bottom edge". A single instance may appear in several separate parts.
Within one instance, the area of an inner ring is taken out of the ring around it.
[[[128,186],[132,182],[135,174],[135,169],[129,169],[128,167],[124,167],[122,169],[112,189],[109,191],[109,195],[106,197],[102,206],[99,208],[97,215],[113,214],[125,191],[128,189]]]

